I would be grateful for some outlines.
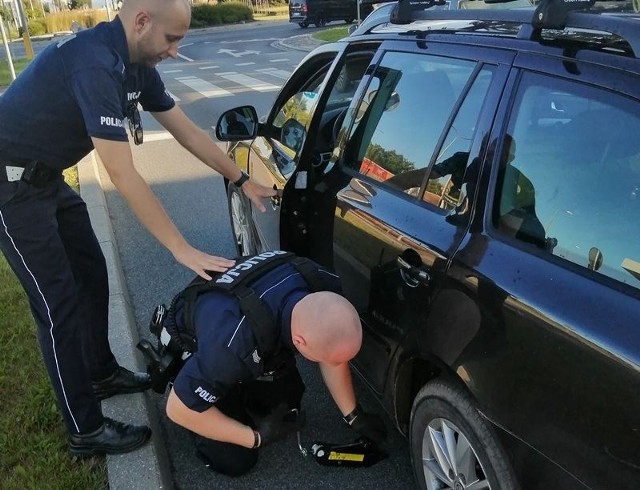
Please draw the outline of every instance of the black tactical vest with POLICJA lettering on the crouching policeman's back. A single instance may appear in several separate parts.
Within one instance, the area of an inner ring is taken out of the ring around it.
[[[241,262],[240,262],[241,260]],[[263,359],[278,354],[274,332],[278,331],[269,306],[249,286],[270,270],[283,264],[291,264],[303,277],[311,292],[332,291],[340,294],[337,281],[329,280],[329,274],[319,271],[319,266],[304,257],[291,252],[275,250],[263,252],[251,257],[240,257],[236,265],[225,272],[214,272],[211,280],[197,276],[171,301],[165,327],[171,338],[186,352],[198,349],[198,339],[194,325],[195,303],[199,295],[207,291],[222,291],[238,300],[240,311],[246,317],[256,341],[258,354]],[[176,307],[182,302],[182,321],[176,321]]]

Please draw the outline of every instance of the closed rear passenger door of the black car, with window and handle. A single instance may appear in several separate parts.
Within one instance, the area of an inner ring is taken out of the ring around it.
[[[354,366],[378,393],[465,234],[483,137],[506,79],[500,60],[510,59],[385,47],[341,128],[341,152],[323,182],[332,190],[314,204],[322,209],[317,203],[332,196],[331,231],[312,239],[316,247],[325,235],[332,240],[333,265],[363,321]]]

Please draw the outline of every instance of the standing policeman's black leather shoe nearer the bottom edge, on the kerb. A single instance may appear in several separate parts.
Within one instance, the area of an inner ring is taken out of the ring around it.
[[[79,457],[128,453],[143,446],[150,437],[151,429],[146,425],[123,424],[105,417],[98,430],[70,435],[69,451]]]

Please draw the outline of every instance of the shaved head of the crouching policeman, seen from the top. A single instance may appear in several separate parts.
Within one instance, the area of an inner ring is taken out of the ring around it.
[[[293,345],[315,362],[340,364],[360,350],[362,326],[353,305],[329,291],[302,298],[291,314]]]

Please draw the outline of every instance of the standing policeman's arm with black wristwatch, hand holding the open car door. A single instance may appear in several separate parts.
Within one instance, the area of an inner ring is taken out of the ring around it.
[[[166,112],[153,112],[152,115],[178,143],[208,167],[222,174],[229,182],[235,182],[240,178],[240,169],[177,105]],[[265,211],[262,198],[274,196],[276,193],[275,190],[256,184],[252,180],[242,184],[242,191],[260,211]]]

